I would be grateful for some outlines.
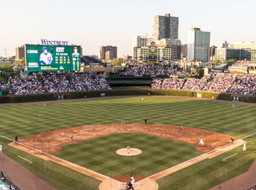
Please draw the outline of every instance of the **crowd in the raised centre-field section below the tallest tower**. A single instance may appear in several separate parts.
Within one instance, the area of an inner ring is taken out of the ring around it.
[[[189,73],[179,68],[174,68],[169,64],[137,64],[128,68],[123,75],[169,75],[169,76],[188,76]]]

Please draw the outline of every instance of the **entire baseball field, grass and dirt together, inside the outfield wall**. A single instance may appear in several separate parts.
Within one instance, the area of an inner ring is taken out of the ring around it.
[[[3,152],[56,189],[118,189],[129,174],[141,190],[146,183],[149,190],[210,189],[255,160],[255,105],[141,98],[1,105]],[[12,143],[15,136],[20,144]],[[127,145],[141,154],[116,153]]]

